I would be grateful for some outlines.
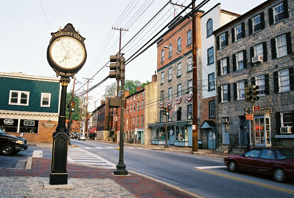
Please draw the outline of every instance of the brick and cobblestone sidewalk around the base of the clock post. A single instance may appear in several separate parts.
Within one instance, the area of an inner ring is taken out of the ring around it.
[[[155,179],[129,172],[114,176],[109,169],[68,163],[68,178],[74,189],[44,189],[51,160],[32,158],[31,169],[0,169],[0,197],[99,197],[99,198],[192,198],[196,194]]]

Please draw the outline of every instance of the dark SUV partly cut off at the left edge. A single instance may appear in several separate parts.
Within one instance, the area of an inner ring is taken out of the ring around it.
[[[28,148],[24,138],[8,135],[0,129],[0,153],[3,155],[17,154]]]

